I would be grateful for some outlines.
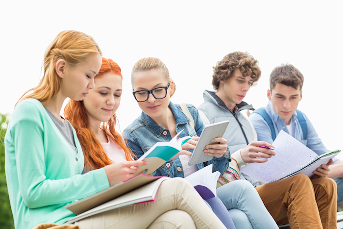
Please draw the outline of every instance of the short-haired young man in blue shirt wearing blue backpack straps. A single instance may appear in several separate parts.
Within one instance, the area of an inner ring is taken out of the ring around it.
[[[259,141],[271,144],[277,134],[284,130],[320,155],[329,150],[320,140],[307,116],[297,110],[298,103],[302,99],[303,82],[304,76],[291,64],[274,68],[270,74],[270,89],[267,92],[270,101],[266,107],[252,113],[249,121],[253,124]],[[343,201],[343,161],[334,158],[326,165],[330,166],[329,171],[318,168],[314,171],[314,177],[335,179],[338,186],[337,201],[340,203]],[[323,166],[325,165],[321,167]]]

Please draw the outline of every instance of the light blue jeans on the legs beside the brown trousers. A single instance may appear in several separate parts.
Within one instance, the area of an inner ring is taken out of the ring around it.
[[[247,180],[235,180],[217,188],[236,229],[278,229],[256,189]]]

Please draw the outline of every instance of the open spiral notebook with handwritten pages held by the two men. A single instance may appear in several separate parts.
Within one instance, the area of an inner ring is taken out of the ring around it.
[[[296,174],[312,177],[313,171],[321,164],[326,164],[341,152],[335,150],[318,155],[283,130],[272,145],[275,147],[275,156],[268,158],[265,163],[247,164],[241,167],[240,171],[263,182],[272,182]]]

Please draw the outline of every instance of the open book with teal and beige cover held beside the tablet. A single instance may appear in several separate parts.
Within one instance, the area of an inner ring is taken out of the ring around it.
[[[157,142],[147,151],[147,153],[144,153],[138,158],[138,161],[144,160],[147,161],[148,164],[139,166],[139,170],[135,175],[140,173],[152,174],[156,169],[176,155],[176,153],[179,153],[182,150],[182,145],[191,139],[190,136],[179,138],[178,135],[182,131],[183,130],[178,132],[169,142]]]

